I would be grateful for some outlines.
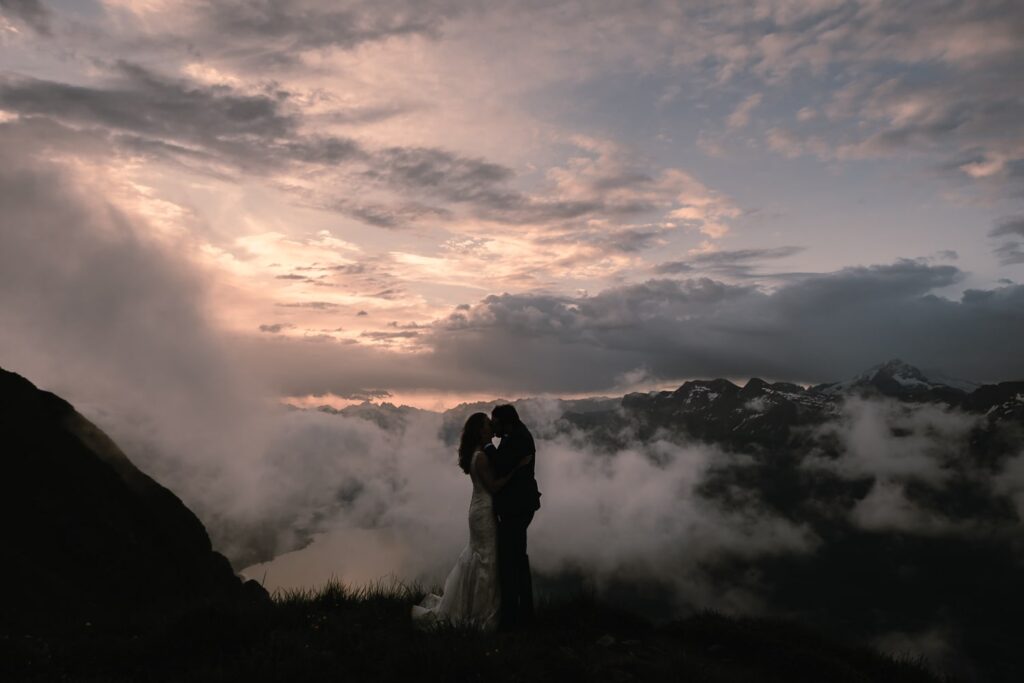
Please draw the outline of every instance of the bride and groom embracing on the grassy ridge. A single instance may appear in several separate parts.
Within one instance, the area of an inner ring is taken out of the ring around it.
[[[501,438],[496,449],[492,439]],[[473,482],[469,544],[444,580],[413,607],[421,626],[447,623],[483,631],[513,630],[534,618],[526,527],[541,507],[534,436],[512,405],[488,418],[474,413],[459,441],[459,467]]]

